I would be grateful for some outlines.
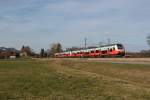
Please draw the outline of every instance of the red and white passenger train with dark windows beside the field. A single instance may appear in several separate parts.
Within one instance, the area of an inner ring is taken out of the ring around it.
[[[123,57],[124,55],[125,55],[125,49],[122,44],[111,44],[111,45],[104,45],[92,49],[82,49],[76,51],[55,53],[55,57],[58,58]]]

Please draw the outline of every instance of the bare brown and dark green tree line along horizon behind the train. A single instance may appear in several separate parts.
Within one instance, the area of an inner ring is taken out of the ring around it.
[[[146,38],[147,44],[150,47],[150,35]],[[93,48],[93,46],[89,46],[87,48]],[[84,47],[71,47],[66,48],[64,51],[74,51],[81,50]],[[55,53],[63,52],[61,43],[53,43],[50,48],[45,50],[42,48],[40,53],[35,53],[34,50],[30,46],[22,46],[20,50],[16,50],[14,48],[4,48],[0,47],[0,59],[9,58],[10,56],[16,57],[54,57]],[[131,57],[150,57],[150,49],[149,50],[141,50],[140,52],[126,52],[126,55],[130,55]]]

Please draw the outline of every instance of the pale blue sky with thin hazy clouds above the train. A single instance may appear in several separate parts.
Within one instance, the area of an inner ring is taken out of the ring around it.
[[[148,49],[150,0],[0,0],[0,46],[48,49],[100,41],[127,51]]]

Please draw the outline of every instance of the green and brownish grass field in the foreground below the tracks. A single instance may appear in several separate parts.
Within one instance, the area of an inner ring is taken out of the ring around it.
[[[150,65],[1,60],[0,100],[150,100]]]

